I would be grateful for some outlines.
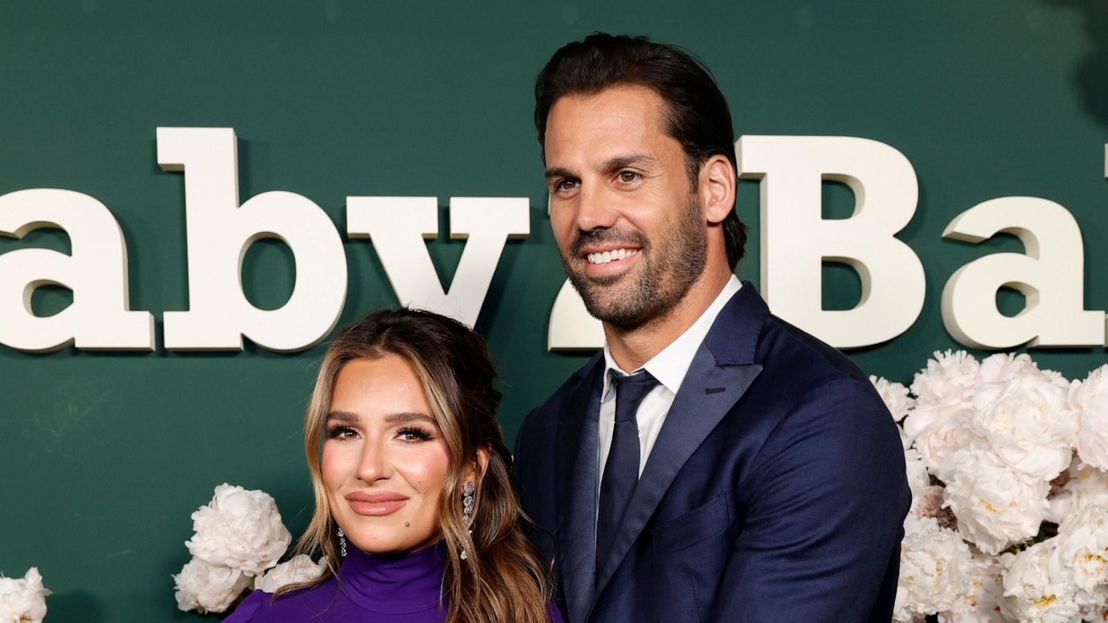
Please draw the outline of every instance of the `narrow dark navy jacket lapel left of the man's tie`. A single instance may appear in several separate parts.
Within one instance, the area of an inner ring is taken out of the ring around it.
[[[556,530],[567,621],[585,620],[596,585],[596,464],[603,361],[603,354],[598,354],[582,368],[582,380],[566,397],[558,418]]]

